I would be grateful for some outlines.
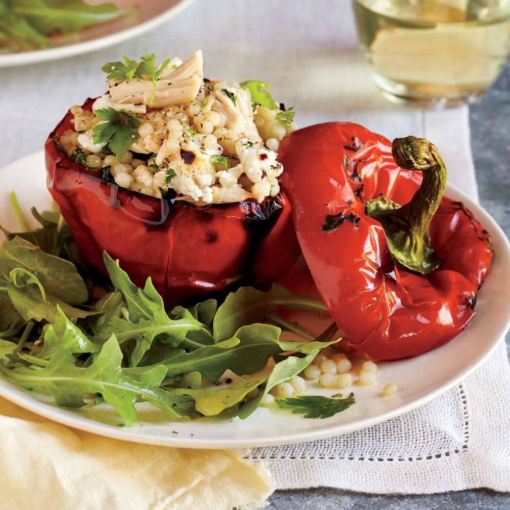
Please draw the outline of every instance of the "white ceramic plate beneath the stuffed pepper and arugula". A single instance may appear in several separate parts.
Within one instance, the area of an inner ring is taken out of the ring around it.
[[[3,226],[15,231],[8,194],[17,192],[24,211],[36,206],[49,208],[51,199],[45,186],[42,151],[0,170],[0,218]],[[0,395],[52,420],[103,436],[156,445],[187,448],[239,448],[309,441],[369,427],[415,407],[452,388],[471,373],[495,349],[510,326],[510,244],[491,216],[453,186],[447,195],[462,200],[489,231],[496,256],[476,305],[478,315],[448,344],[410,360],[380,363],[379,382],[373,387],[353,387],[356,403],[347,411],[324,420],[305,419],[283,410],[260,408],[246,420],[202,418],[190,423],[169,421],[150,404],[137,404],[139,423],[121,428],[121,420],[107,404],[81,410],[55,406],[52,399],[36,392],[27,393],[0,378]],[[382,386],[397,382],[397,395],[384,398]],[[338,390],[321,390],[309,383],[310,391],[330,396]]]

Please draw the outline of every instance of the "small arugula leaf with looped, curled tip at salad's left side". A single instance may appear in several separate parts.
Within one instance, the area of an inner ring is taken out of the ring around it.
[[[27,281],[20,281],[18,279],[19,274],[28,276]],[[32,285],[36,285],[37,289]],[[25,321],[34,319],[38,322],[42,320],[55,322],[58,314],[57,305],[60,305],[66,317],[71,320],[84,319],[97,314],[95,310],[79,310],[54,296],[48,295],[33,273],[20,268],[11,271],[10,281],[7,283],[7,292],[14,308]]]

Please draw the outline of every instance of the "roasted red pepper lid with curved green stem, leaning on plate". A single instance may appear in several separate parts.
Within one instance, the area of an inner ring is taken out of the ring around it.
[[[339,347],[394,360],[466,326],[493,251],[470,211],[441,198],[446,170],[432,144],[397,139],[392,156],[384,137],[331,122],[287,136],[281,161],[304,258],[344,333]]]

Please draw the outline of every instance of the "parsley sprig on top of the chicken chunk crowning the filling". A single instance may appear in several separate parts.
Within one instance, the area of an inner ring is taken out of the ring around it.
[[[107,62],[101,69],[108,73],[109,80],[120,82],[127,80],[131,82],[134,78],[152,82],[152,95],[150,96],[149,106],[154,101],[156,95],[156,84],[161,76],[161,73],[168,67],[171,59],[166,59],[162,62],[158,69],[156,69],[156,57],[154,53],[150,55],[143,55],[140,57],[140,62],[131,60],[130,58],[123,57],[124,62]],[[172,66],[173,67],[173,66]]]

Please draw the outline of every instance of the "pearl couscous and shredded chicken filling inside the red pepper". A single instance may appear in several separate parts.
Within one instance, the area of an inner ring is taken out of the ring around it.
[[[296,128],[294,112],[278,108],[272,98],[273,109],[253,103],[249,87],[206,80],[202,68],[201,50],[186,62],[171,59],[154,97],[149,81],[108,79],[109,93],[91,111],[71,109],[75,131],[64,133],[61,145],[89,170],[106,169],[121,188],[158,198],[200,206],[276,196],[283,172],[277,150]],[[105,122],[96,112],[105,108],[138,123],[120,161],[105,143],[94,141],[94,129]]]

